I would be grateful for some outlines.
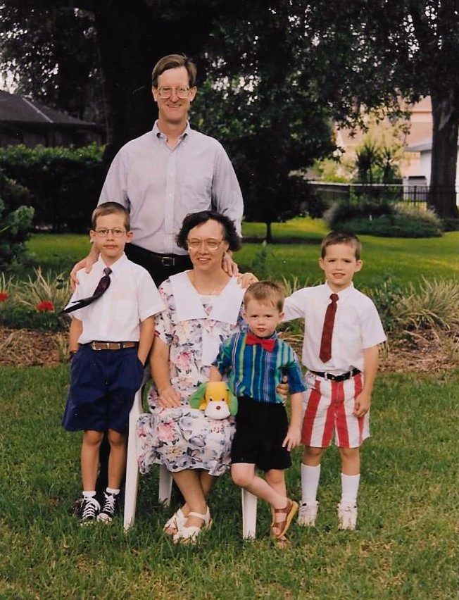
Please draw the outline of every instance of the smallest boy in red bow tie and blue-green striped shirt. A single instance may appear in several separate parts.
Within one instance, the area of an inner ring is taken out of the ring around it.
[[[239,400],[232,480],[271,505],[271,531],[280,546],[298,510],[298,504],[287,497],[284,470],[291,465],[291,449],[300,443],[305,389],[294,351],[277,337],[283,304],[284,294],[276,283],[250,285],[244,294],[249,332],[225,340],[210,368],[210,381],[220,381],[229,373],[228,385]],[[287,375],[291,393],[290,426],[284,401],[276,392],[282,375]],[[256,467],[265,471],[265,479],[256,475]]]

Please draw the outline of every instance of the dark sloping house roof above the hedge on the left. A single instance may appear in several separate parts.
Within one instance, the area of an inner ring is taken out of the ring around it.
[[[39,102],[0,90],[0,123],[34,123],[35,125],[67,125],[96,127],[94,123],[70,117]]]

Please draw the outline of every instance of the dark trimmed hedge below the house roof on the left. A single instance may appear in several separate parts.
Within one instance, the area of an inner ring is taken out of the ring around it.
[[[0,148],[0,170],[30,192],[33,225],[52,231],[82,232],[97,204],[106,174],[103,147],[8,146]]]

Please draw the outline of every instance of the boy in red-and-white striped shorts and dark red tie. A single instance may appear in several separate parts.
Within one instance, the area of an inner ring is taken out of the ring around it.
[[[320,459],[334,438],[341,454],[339,527],[356,528],[359,448],[370,435],[378,344],[386,340],[375,305],[353,287],[353,275],[362,268],[360,251],[356,235],[329,233],[319,258],[325,284],[300,289],[284,303],[284,320],[305,319],[302,360],[308,368],[308,391],[301,431],[305,449],[299,525],[315,525]]]

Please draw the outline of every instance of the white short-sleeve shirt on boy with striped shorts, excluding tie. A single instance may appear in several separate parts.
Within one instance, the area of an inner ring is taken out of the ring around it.
[[[320,339],[325,311],[332,289],[327,283],[294,292],[284,303],[284,321],[304,318],[302,362],[313,371],[339,375],[358,368],[363,370],[363,350],[386,341],[381,319],[372,300],[353,285],[338,294],[332,336],[332,358],[322,363]]]

